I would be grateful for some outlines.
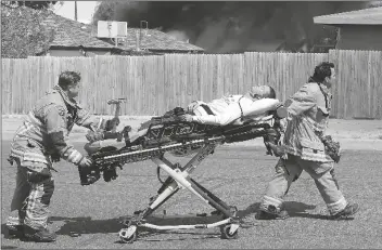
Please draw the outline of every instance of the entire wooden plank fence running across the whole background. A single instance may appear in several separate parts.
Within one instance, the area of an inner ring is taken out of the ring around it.
[[[127,97],[122,115],[152,116],[258,84],[272,85],[285,101],[328,60],[339,71],[332,116],[381,119],[382,52],[374,51],[2,58],[2,114],[26,114],[62,70],[81,74],[79,102],[100,115],[113,114],[106,104],[113,97]]]

